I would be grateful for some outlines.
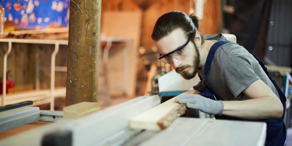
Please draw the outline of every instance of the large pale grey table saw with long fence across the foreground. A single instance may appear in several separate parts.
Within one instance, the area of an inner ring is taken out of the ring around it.
[[[34,115],[34,117],[32,117],[33,119],[39,118],[43,121],[50,121],[50,119],[53,119],[51,121],[55,120],[55,122],[1,140],[0,145],[262,146],[265,144],[266,124],[263,122],[214,121],[211,119],[178,117],[168,128],[162,131],[129,128],[128,125],[131,118],[159,104],[160,98],[158,95],[145,95],[74,120],[62,119],[62,112],[58,112],[58,115],[41,113],[38,111],[38,107],[25,106],[10,109],[0,112],[1,131],[7,130],[6,126],[9,127],[13,121],[14,124],[19,124],[19,118],[29,117],[31,115]],[[34,112],[25,113],[26,110],[32,110],[29,108],[33,108]],[[16,112],[18,116],[11,116],[15,115],[12,114],[13,110],[18,111]],[[22,111],[22,114],[19,114],[20,111]],[[56,116],[58,118],[56,118]],[[23,119],[21,120],[21,122],[24,121]]]

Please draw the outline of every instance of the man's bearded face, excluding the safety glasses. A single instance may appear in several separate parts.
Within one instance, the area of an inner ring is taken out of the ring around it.
[[[187,37],[185,36],[184,31],[178,28],[157,41],[156,46],[161,55],[164,55],[182,46],[186,42]],[[169,62],[169,64],[175,69],[175,72],[180,74],[183,78],[192,79],[196,76],[198,71],[200,54],[193,41],[190,41],[185,48],[190,49],[189,55],[183,60],[171,58],[172,62]]]

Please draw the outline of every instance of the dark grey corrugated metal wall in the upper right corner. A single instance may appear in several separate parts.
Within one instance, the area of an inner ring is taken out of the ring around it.
[[[274,22],[274,23],[271,23]],[[292,1],[274,0],[270,13],[266,57],[279,66],[292,67]],[[269,47],[272,50],[269,50]],[[270,47],[270,48],[271,48]]]

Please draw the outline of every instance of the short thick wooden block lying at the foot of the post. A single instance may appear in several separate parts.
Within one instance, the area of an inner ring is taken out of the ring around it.
[[[80,102],[63,108],[64,119],[77,119],[100,110],[97,102]]]

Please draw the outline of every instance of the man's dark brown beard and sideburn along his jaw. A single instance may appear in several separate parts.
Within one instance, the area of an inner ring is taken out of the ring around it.
[[[193,64],[192,65],[182,65],[182,66],[180,66],[180,67],[175,69],[175,72],[177,72],[184,79],[187,79],[187,80],[192,79],[192,78],[194,78],[196,76],[196,74],[198,72],[198,66],[199,66],[199,63],[200,63],[199,49],[198,49],[198,47],[196,46],[195,43],[193,43],[193,44],[194,44],[194,48],[195,48],[195,51],[196,51],[196,53],[193,56]],[[193,70],[189,69],[189,72],[185,71],[183,73],[178,72],[180,69],[184,69],[186,67],[189,67],[190,69],[193,68]]]

